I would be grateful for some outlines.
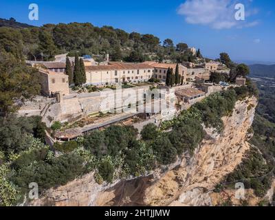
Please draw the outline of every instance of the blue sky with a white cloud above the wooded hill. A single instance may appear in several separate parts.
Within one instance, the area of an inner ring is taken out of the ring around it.
[[[30,21],[29,5],[39,6],[39,20]],[[244,21],[235,19],[244,5]],[[154,34],[161,41],[187,43],[203,56],[228,52],[234,61],[275,63],[273,0],[1,0],[0,18],[30,25],[90,22],[126,32]]]

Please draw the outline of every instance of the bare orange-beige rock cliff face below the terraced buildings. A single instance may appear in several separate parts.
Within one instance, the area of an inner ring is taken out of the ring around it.
[[[179,166],[166,173],[123,180],[112,186],[96,184],[90,173],[66,186],[49,190],[32,205],[210,206],[212,199],[207,192],[241,163],[250,148],[248,129],[254,120],[256,104],[256,98],[236,102],[232,116],[223,118],[223,133],[217,135],[206,129],[206,138],[194,155],[186,155]]]

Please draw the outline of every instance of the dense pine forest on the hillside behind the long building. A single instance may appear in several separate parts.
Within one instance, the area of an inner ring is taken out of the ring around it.
[[[161,45],[159,38],[152,34],[127,33],[111,26],[98,28],[91,23],[59,23],[26,27],[3,19],[1,23],[0,50],[11,52],[20,59],[51,61],[54,55],[67,52],[73,56],[76,53],[79,56],[108,53],[113,61],[129,62],[151,59],[181,62],[196,58],[186,52],[186,43],[174,45],[171,39],[166,39]],[[201,57],[201,52],[197,55]]]

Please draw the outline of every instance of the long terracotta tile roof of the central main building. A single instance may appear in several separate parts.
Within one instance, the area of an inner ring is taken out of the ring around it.
[[[104,71],[104,70],[120,70],[120,69],[153,69],[151,65],[146,63],[122,63],[109,62],[108,65],[85,67],[87,71]]]

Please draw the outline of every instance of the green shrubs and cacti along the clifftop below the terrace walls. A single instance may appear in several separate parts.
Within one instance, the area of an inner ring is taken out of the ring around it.
[[[141,132],[142,140],[137,139],[137,129],[133,126],[115,125],[88,133],[76,141],[54,144],[53,149],[34,138],[45,135],[41,132],[44,131],[41,118],[12,115],[2,118],[0,169],[5,172],[1,171],[1,205],[22,201],[30,182],[39,184],[39,192],[43,193],[93,170],[96,181],[102,184],[102,181],[138,177],[157,166],[172,164],[182,153],[192,154],[201,143],[205,135],[202,122],[222,128],[221,117],[232,112],[236,99],[232,88],[213,94],[165,122],[166,129],[172,128],[171,131],[147,124]],[[52,129],[60,126],[60,122],[54,122]]]

